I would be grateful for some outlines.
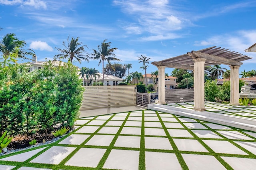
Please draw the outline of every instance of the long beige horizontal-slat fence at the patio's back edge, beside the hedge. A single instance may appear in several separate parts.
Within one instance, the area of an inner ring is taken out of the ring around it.
[[[83,85],[80,110],[136,105],[136,85]]]

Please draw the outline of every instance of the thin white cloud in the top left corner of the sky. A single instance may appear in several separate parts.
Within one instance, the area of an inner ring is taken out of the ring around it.
[[[36,9],[46,9],[46,3],[42,0],[0,0],[0,4],[4,5],[21,5],[21,6],[32,6]]]

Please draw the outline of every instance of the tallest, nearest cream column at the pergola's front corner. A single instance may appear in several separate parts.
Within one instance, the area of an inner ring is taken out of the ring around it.
[[[204,107],[204,63],[206,59],[196,58],[194,61],[194,108],[196,111],[205,111]]]

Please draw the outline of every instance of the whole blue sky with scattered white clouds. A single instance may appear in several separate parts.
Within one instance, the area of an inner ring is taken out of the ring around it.
[[[212,46],[253,57],[240,72],[256,69],[256,53],[244,52],[256,43],[255,18],[256,0],[0,0],[0,36],[15,33],[38,61],[53,59],[68,36],[88,53],[107,39],[120,63],[142,73],[140,55],[152,62]],[[102,71],[97,60],[74,64]]]

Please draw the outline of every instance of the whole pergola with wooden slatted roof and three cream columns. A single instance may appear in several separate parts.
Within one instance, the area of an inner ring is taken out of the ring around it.
[[[239,67],[241,61],[252,59],[235,51],[221,47],[209,47],[199,51],[191,51],[184,55],[162,61],[154,61],[158,67],[158,103],[166,104],[164,88],[164,71],[166,67],[188,69],[194,71],[194,110],[205,111],[204,108],[204,67],[209,65],[230,65],[230,105],[239,105]]]

